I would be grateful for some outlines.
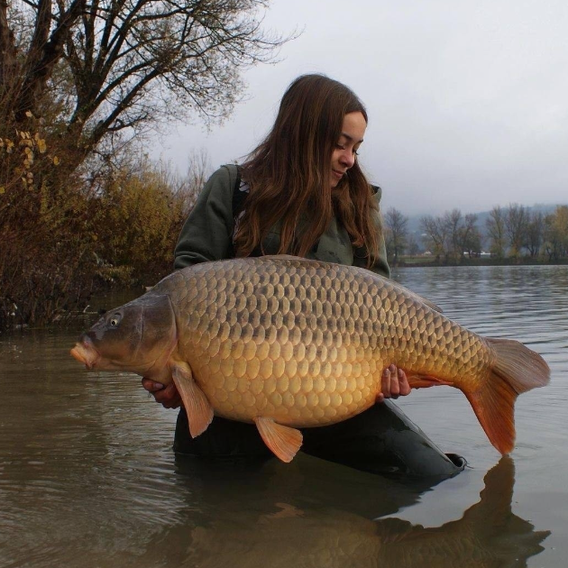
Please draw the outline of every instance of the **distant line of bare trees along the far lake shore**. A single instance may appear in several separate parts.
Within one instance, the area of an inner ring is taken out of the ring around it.
[[[398,209],[390,208],[383,218],[387,252],[394,264],[420,250],[444,264],[459,264],[484,251],[497,261],[568,261],[568,206],[556,206],[546,215],[517,204],[493,207],[485,234],[478,215],[463,215],[459,209],[426,215],[420,219],[421,243],[408,233],[408,217]]]

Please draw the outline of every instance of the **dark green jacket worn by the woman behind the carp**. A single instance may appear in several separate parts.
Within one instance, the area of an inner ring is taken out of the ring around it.
[[[228,165],[217,169],[207,181],[179,234],[174,268],[180,269],[198,262],[220,261],[233,257],[233,190],[236,179],[236,166]],[[375,194],[375,199],[379,205],[380,188]],[[377,214],[377,224],[380,225],[379,214]],[[278,229],[267,235],[263,245],[267,254],[278,252]],[[349,234],[335,218],[320,237],[315,250],[307,254],[307,258],[366,267],[363,251],[353,251]],[[382,276],[390,275],[382,237],[379,258],[371,270]]]

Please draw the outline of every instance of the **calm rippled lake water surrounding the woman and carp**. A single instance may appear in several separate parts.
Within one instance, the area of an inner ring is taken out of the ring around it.
[[[469,466],[426,490],[302,453],[290,464],[177,461],[177,413],[137,376],[85,371],[69,356],[77,329],[0,335],[0,566],[564,568],[568,267],[394,277],[550,365],[551,384],[518,399],[510,458],[462,393],[440,387],[399,406]]]

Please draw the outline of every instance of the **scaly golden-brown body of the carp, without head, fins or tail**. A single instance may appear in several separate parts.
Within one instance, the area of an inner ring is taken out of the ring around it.
[[[367,270],[252,259],[191,270],[176,279],[179,355],[217,415],[331,424],[374,403],[390,362],[456,383],[487,369],[481,337]]]

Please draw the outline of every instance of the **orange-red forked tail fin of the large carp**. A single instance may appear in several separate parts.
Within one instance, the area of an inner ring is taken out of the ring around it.
[[[495,353],[490,377],[476,390],[464,391],[481,427],[500,453],[515,445],[515,400],[519,394],[544,387],[550,380],[545,360],[523,344],[486,338]]]

